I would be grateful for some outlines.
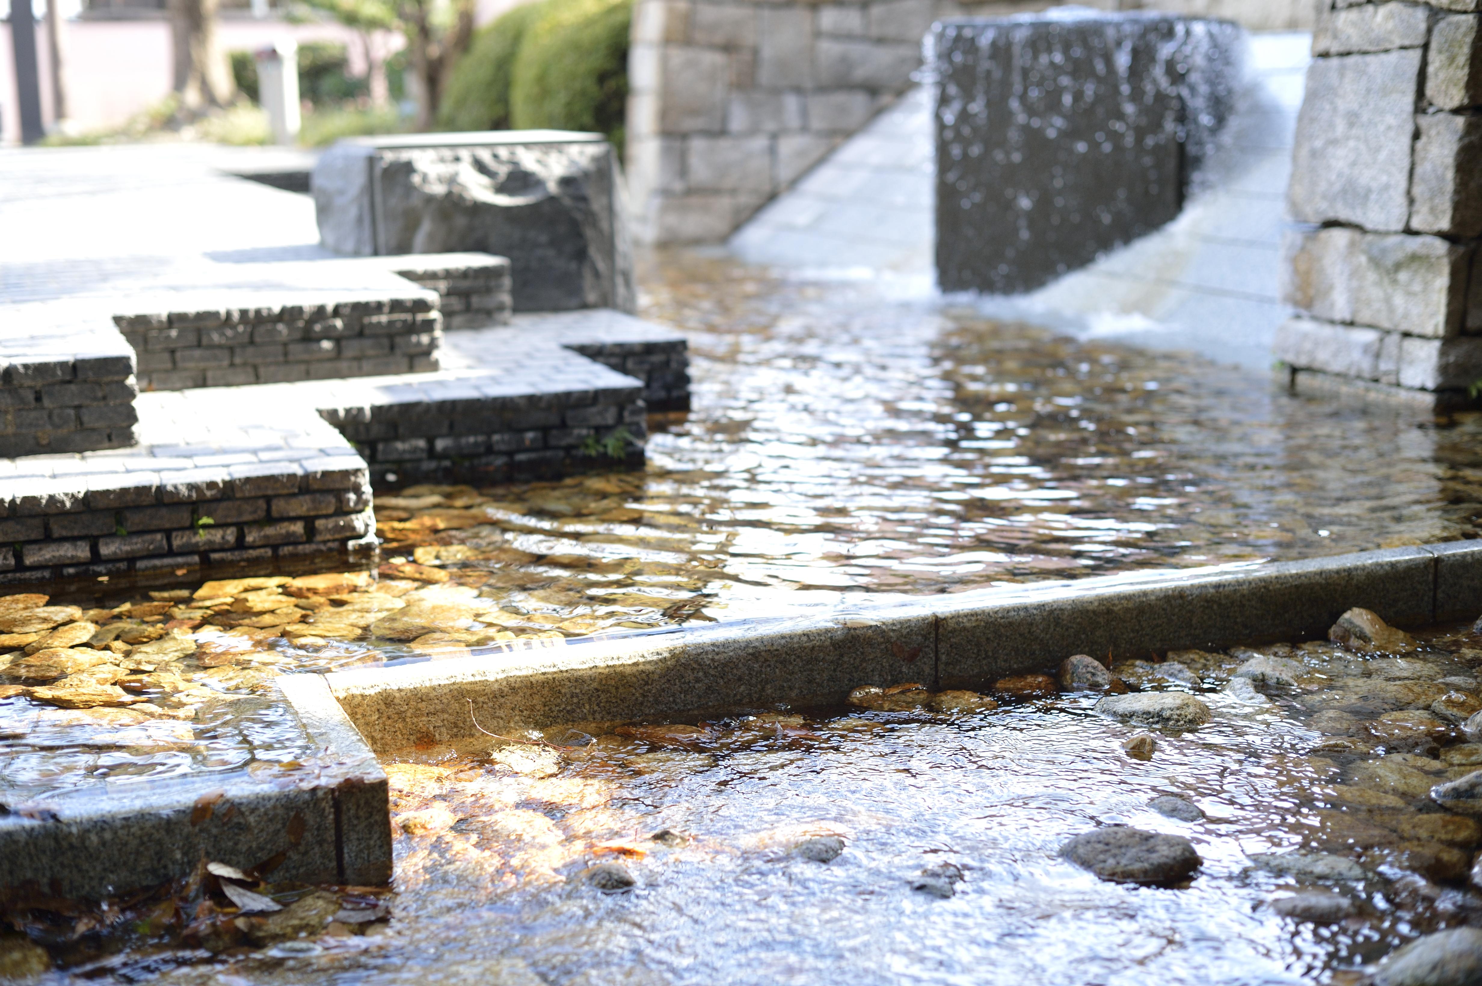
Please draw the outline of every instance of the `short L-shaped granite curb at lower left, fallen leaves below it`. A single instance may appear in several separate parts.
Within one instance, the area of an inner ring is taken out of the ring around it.
[[[373,885],[391,876],[385,773],[322,675],[283,696],[319,755],[293,771],[129,783],[6,805],[0,900],[102,899],[188,876],[202,860],[273,881]]]

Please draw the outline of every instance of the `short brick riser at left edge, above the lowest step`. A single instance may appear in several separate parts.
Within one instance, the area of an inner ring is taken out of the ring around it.
[[[133,444],[133,360],[18,360],[0,370],[0,457]]]

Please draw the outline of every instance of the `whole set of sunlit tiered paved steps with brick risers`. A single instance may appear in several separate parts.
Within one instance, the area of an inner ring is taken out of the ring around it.
[[[37,404],[24,410],[25,437],[56,450],[0,459],[0,583],[359,557],[368,484],[554,477],[591,468],[594,456],[634,465],[645,400],[688,406],[683,336],[621,312],[532,314],[449,333],[436,315],[405,314],[427,312],[440,295],[467,302],[458,286],[476,272],[502,277],[507,299],[507,265],[483,255],[336,258],[317,246],[307,195],[222,173],[255,160],[182,145],[0,152],[0,378],[16,401]],[[419,287],[434,268],[451,280]],[[486,314],[507,318],[507,303]],[[133,348],[114,315],[126,315]],[[351,338],[353,321],[365,323],[363,338]],[[412,332],[406,346],[399,326]],[[319,329],[323,339],[293,342]],[[353,352],[325,355],[351,342]],[[370,358],[391,342],[397,354],[428,355]],[[197,379],[179,364],[219,367],[230,355],[225,372],[239,372],[239,348],[261,357],[259,382],[202,386],[213,370]],[[132,422],[132,434],[117,441],[96,428],[58,432],[59,416],[86,426],[108,410],[96,400],[58,406],[92,386],[58,383],[62,370],[83,380],[61,361],[82,352],[92,373],[102,351],[122,352],[124,373],[138,351],[141,385],[159,389],[127,388],[120,426]],[[399,369],[387,376],[390,363]],[[108,441],[70,440],[95,432]],[[258,487],[277,499],[264,502]],[[119,521],[122,508],[163,520]]]

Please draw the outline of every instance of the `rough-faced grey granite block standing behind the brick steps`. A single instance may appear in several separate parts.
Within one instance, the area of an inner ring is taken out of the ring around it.
[[[319,158],[313,188],[336,253],[495,253],[516,311],[634,308],[622,173],[600,135],[354,138]]]

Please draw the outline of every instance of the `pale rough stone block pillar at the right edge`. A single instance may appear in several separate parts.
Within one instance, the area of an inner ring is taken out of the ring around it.
[[[1276,357],[1463,400],[1482,380],[1482,4],[1332,0],[1297,124]]]

